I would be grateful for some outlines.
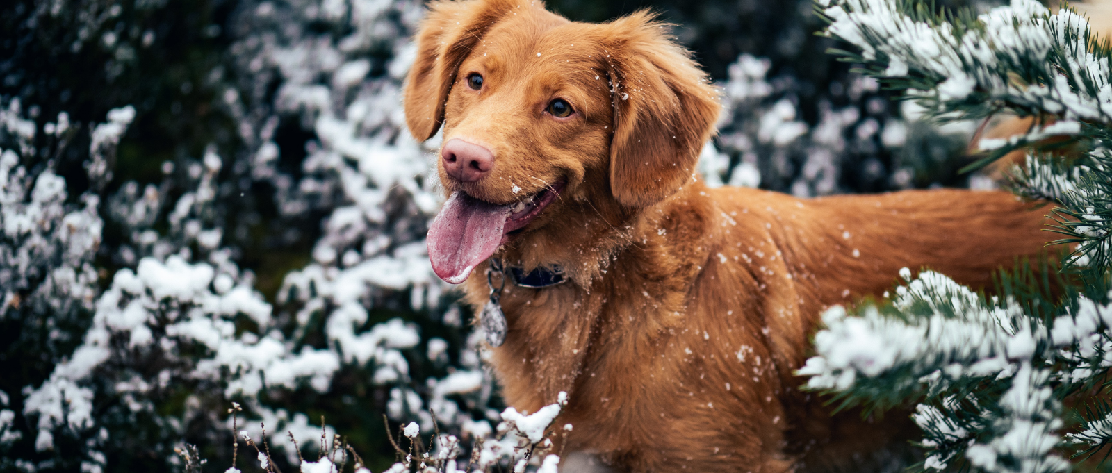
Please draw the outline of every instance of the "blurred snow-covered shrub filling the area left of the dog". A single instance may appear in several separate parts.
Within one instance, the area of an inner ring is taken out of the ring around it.
[[[41,20],[96,10],[89,8],[37,14]],[[90,32],[121,16],[117,7],[106,9],[86,24]],[[305,392],[338,397],[350,410],[385,411],[396,421],[420,419],[426,430],[435,415],[443,427],[490,431],[481,427],[492,399],[490,375],[477,355],[481,336],[445,336],[458,333],[463,316],[441,300],[444,285],[428,270],[424,233],[438,198],[423,179],[425,151],[401,125],[397,90],[411,60],[404,49],[420,14],[416,2],[239,3],[232,23],[247,28],[231,44],[229,64],[214,68],[203,87],[239,123],[236,138],[245,151],[221,155],[220,147],[209,144],[197,158],[162,162],[161,184],[127,180],[106,187],[121,137],[136,119],[135,108],[112,110],[105,123],[81,130],[89,148],[79,163],[91,189],[83,207],[67,202],[67,182],[50,172],[49,162],[43,169],[32,161],[38,168],[29,170],[20,158],[36,154],[38,129],[68,137],[67,115],[42,125],[11,101],[3,115],[11,143],[4,148],[12,151],[3,154],[8,231],[0,254],[12,271],[3,273],[3,314],[37,310],[38,319],[21,320],[41,330],[40,336],[68,343],[43,353],[53,362],[40,381],[12,393],[16,402],[2,400],[18,409],[0,417],[3,446],[12,446],[4,467],[79,463],[99,471],[118,467],[109,459],[128,457],[180,463],[185,457],[173,451],[183,440],[202,445],[197,454],[219,457],[226,454],[226,442],[217,442],[221,425],[230,422],[222,407],[231,399],[311,451],[315,442],[306,440],[318,427],[299,412]],[[336,28],[322,32],[321,22]],[[140,41],[150,43],[150,37]],[[380,68],[396,53],[403,59],[386,74],[367,59],[377,58]],[[256,87],[268,83],[277,83],[277,91]],[[309,154],[292,169],[280,165],[282,150],[275,142],[282,120],[315,134],[304,145]],[[255,290],[256,272],[237,264],[247,225],[258,217],[232,198],[256,183],[272,189],[275,223],[289,225],[286,233],[298,232],[314,212],[316,222],[326,222],[314,262],[286,278],[272,300],[277,309]],[[93,193],[101,189],[103,205]],[[115,233],[107,248],[98,248],[102,215]],[[98,274],[98,250],[118,270]],[[47,303],[52,306],[40,308]],[[66,315],[79,310],[85,312]],[[446,313],[426,321],[434,333],[446,333],[423,340],[417,324],[384,318],[384,310],[407,318],[423,310]],[[79,325],[50,326],[62,323]],[[425,348],[429,362],[415,372],[410,360],[424,359],[418,350]],[[369,399],[357,402],[354,395]],[[13,421],[23,419],[31,424],[17,429]],[[365,427],[379,439],[386,434],[380,421],[371,415]],[[261,424],[246,425],[251,433]],[[12,445],[20,439],[22,447]],[[286,453],[281,464],[298,457],[282,443],[275,447]],[[378,452],[370,453],[381,462]]]

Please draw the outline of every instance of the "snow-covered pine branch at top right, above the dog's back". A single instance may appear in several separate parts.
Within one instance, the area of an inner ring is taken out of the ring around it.
[[[975,16],[936,12],[911,0],[821,1],[826,34],[860,53],[832,51],[863,64],[887,88],[906,90],[937,120],[982,119],[1005,110],[1045,125],[1007,141],[983,140],[983,167],[1050,137],[1082,139],[1112,124],[1108,41],[1063,6],[1051,14],[1016,0]]]

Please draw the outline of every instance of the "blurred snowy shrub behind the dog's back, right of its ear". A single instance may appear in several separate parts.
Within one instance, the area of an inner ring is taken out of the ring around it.
[[[722,84],[727,113],[715,139],[723,152],[703,169],[712,185],[759,184],[798,197],[940,183],[992,185],[983,177],[956,173],[961,161],[955,157],[976,123],[940,127],[914,102],[894,107],[874,78],[855,73],[846,78],[847,87],[834,88],[837,100],[818,102],[817,122],[807,121],[797,91],[766,77],[771,66],[749,54],[729,64]]]

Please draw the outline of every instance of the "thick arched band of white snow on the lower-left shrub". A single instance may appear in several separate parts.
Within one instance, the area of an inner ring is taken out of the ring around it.
[[[93,325],[85,343],[70,362],[56,366],[50,380],[28,396],[24,413],[39,416],[40,439],[49,439],[43,433],[61,421],[63,403],[69,410],[67,420],[75,429],[91,425],[92,391],[77,383],[88,380],[111,356],[107,349],[110,333],[130,332],[132,345],[153,343],[148,325],[153,323],[153,314],[161,306],[159,301],[163,300],[192,308],[165,314],[170,315],[166,335],[196,341],[210,350],[210,358],[197,362],[193,375],[218,381],[224,369],[237,373],[227,381],[227,395],[258,393],[264,386],[262,372],[268,385],[292,389],[304,379],[317,391],[326,392],[331,373],[339,369],[338,356],[308,346],[299,353],[289,353],[276,332],[262,338],[248,332],[237,339],[229,319],[244,313],[266,326],[270,306],[257,292],[242,285],[222,295],[211,292],[208,286],[214,272],[207,263],[190,264],[177,255],[165,263],[145,258],[137,273],[120,270],[97,303]],[[40,444],[47,445],[47,440]]]

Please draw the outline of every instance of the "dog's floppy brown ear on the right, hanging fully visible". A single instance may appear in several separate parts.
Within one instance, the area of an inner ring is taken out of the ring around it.
[[[610,190],[624,205],[652,205],[695,172],[722,105],[666,24],[641,11],[609,23],[614,138]]]

